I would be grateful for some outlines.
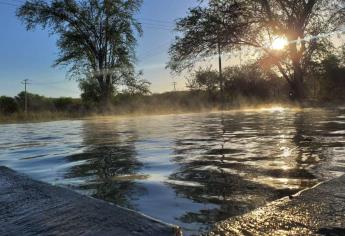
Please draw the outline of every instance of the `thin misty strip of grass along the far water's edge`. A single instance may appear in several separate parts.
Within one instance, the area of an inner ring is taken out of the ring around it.
[[[169,95],[169,94],[168,94]],[[162,96],[162,95],[161,95]],[[300,104],[294,104],[287,101],[255,101],[248,99],[236,99],[233,104],[225,105],[224,110],[246,110],[246,109],[277,109],[277,107],[296,108]],[[324,107],[325,104],[307,103],[306,107]],[[303,107],[303,106],[302,106]],[[18,112],[10,115],[0,114],[0,123],[26,123],[26,122],[45,122],[56,120],[72,119],[97,119],[102,117],[128,117],[142,115],[168,115],[181,113],[200,113],[221,111],[217,103],[210,103],[202,99],[178,99],[159,97],[159,99],[132,99],[126,103],[120,103],[112,107],[107,113],[99,112],[57,112],[57,111],[40,111],[30,112],[25,115],[24,112]]]

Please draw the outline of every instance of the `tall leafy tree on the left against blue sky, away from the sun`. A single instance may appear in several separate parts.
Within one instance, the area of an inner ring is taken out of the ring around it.
[[[17,16],[28,30],[40,25],[58,35],[60,49],[55,65],[70,66],[73,76],[96,80],[100,101],[110,103],[114,88],[133,75],[135,20],[142,0],[43,0],[26,1]]]

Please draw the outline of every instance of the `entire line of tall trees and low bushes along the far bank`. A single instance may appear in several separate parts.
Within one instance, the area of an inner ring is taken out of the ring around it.
[[[331,37],[342,31],[345,4],[341,1],[209,0],[189,8],[175,21],[178,34],[170,45],[166,68],[181,75],[198,65],[212,65],[212,58],[218,56],[219,73],[212,67],[201,68],[188,79],[189,91],[165,94],[151,94],[149,81],[136,69],[142,28],[135,16],[142,2],[23,3],[18,18],[28,30],[43,27],[57,37],[54,65],[67,67],[82,90],[81,99],[30,94],[29,111],[195,111],[276,101],[303,105],[311,100],[344,100],[345,45],[337,47]],[[226,54],[242,56],[243,50],[245,65],[222,67]],[[23,94],[3,97],[1,102],[2,113],[23,111]]]

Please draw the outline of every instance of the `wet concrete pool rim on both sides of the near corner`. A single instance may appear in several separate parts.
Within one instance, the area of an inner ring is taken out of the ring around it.
[[[219,222],[208,235],[342,235],[345,176]],[[0,167],[1,235],[181,235],[177,226]]]

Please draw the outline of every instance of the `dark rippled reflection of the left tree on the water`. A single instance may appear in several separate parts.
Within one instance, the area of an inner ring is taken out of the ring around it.
[[[96,131],[96,132],[95,132]],[[99,131],[99,132],[98,132]],[[142,163],[136,158],[135,133],[117,133],[109,124],[86,123],[83,127],[86,149],[66,157],[68,162],[82,162],[71,167],[65,179],[85,180],[77,190],[106,201],[133,208],[133,179]],[[128,178],[132,176],[131,178]]]

